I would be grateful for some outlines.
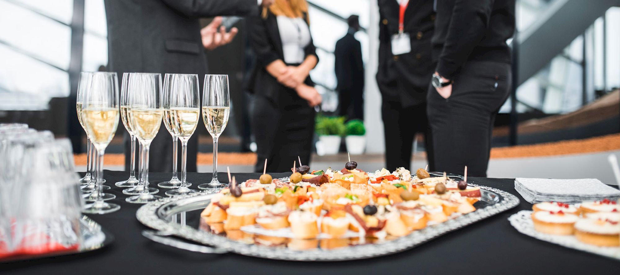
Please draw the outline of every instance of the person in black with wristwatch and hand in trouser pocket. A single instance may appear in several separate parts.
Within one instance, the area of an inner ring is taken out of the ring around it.
[[[428,92],[435,168],[486,177],[495,115],[511,87],[515,0],[436,0]]]

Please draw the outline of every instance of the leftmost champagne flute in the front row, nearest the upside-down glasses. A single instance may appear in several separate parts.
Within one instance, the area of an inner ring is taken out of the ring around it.
[[[89,198],[94,203],[87,204],[84,213],[105,214],[120,209],[118,204],[106,203],[104,198],[116,198],[112,194],[102,193],[104,176],[105,148],[112,141],[118,126],[118,78],[116,72],[94,72],[89,89],[82,98],[82,121],[86,133],[97,149],[95,161],[95,184],[97,188]]]

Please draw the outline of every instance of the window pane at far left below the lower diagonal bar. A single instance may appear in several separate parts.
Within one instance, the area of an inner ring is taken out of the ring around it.
[[[0,44],[0,110],[45,110],[69,95],[69,75]]]

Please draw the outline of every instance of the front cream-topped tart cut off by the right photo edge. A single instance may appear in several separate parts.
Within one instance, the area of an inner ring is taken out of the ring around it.
[[[620,213],[591,213],[575,222],[577,240],[599,247],[620,245]]]

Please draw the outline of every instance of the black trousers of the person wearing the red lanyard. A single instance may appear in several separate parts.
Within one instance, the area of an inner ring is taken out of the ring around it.
[[[429,164],[432,163],[433,139],[430,136],[430,129],[428,129],[426,103],[403,108],[401,102],[384,98],[381,105],[381,116],[383,116],[387,170],[394,171],[399,167],[410,170],[411,151],[417,133],[425,134],[428,162]],[[414,170],[417,168],[420,167],[415,167]]]

